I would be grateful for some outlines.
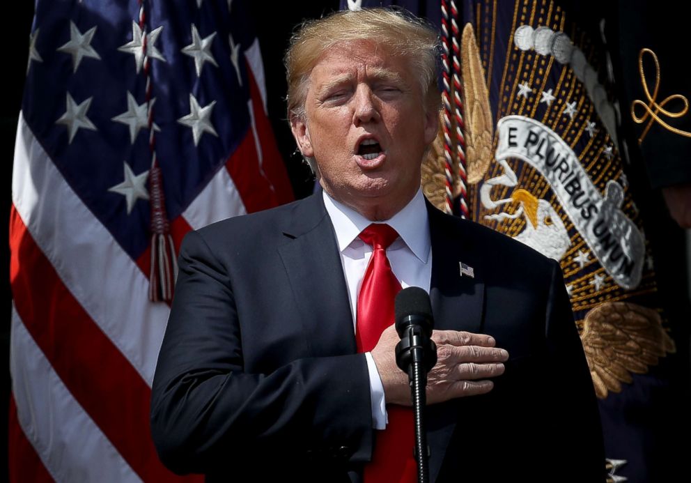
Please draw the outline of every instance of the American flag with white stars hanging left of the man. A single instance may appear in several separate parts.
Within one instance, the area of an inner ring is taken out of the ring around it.
[[[238,0],[36,2],[10,214],[13,482],[176,478],[149,433],[169,313],[148,297],[150,172],[176,248],[293,197],[248,20]]]

